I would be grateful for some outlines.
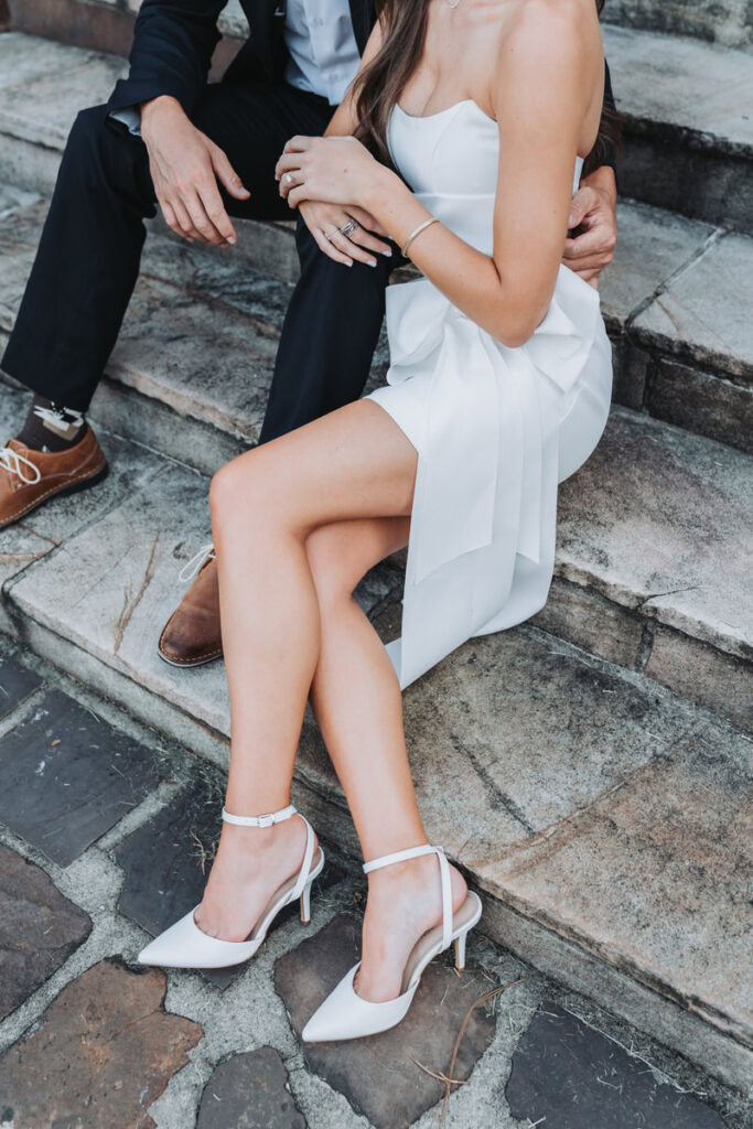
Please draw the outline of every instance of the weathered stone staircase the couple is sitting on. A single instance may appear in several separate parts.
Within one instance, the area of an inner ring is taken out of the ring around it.
[[[129,24],[121,7],[10,0],[15,27],[86,45],[0,35],[0,336],[70,122],[125,69],[95,50],[121,50],[103,30]],[[753,68],[744,5],[695,7],[690,26],[686,6],[623,0],[605,28],[627,117],[603,286],[615,406],[561,489],[550,601],[461,648],[405,711],[429,833],[483,891],[485,930],[747,1089]],[[209,540],[208,475],[257,438],[297,271],[290,225],[239,227],[217,253],[152,224],[93,408],[111,475],[0,534],[0,629],[221,765],[221,664],[176,671],[155,646]],[[383,343],[374,380],[385,364]],[[1,386],[3,435],[25,403]],[[359,590],[385,638],[400,588],[388,562]],[[296,790],[356,851],[312,724]]]

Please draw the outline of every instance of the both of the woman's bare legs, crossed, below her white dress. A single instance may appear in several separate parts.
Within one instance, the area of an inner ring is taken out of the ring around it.
[[[256,814],[288,803],[312,689],[367,858],[426,841],[392,665],[351,598],[368,568],[404,544],[415,453],[374,404],[352,405],[261,452],[212,485],[233,753],[227,806]],[[394,515],[377,517],[377,515]],[[313,683],[313,685],[312,685]],[[303,825],[225,825],[198,911],[240,939],[303,855]],[[465,886],[453,873],[454,902]],[[369,881],[359,990],[387,999],[418,937],[440,918],[436,859]]]

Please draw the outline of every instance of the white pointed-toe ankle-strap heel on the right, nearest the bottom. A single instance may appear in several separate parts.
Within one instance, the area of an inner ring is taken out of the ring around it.
[[[384,855],[364,866],[364,873],[377,870],[393,863],[402,863],[420,855],[436,855],[439,860],[441,878],[441,925],[429,929],[418,939],[408,959],[403,972],[402,990],[394,999],[383,1004],[373,1004],[358,995],[353,986],[360,961],[354,964],[336,988],[310,1017],[301,1032],[301,1039],[307,1043],[330,1042],[339,1039],[362,1039],[365,1035],[376,1035],[388,1031],[404,1018],[411,1006],[421,973],[427,964],[439,953],[455,942],[455,964],[457,969],[465,968],[465,938],[481,917],[481,899],[469,891],[469,894],[453,913],[453,894],[449,876],[449,864],[441,847],[412,847],[409,850]]]

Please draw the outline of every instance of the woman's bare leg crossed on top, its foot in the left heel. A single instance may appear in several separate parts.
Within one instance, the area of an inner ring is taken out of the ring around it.
[[[373,402],[341,409],[242,455],[213,479],[222,645],[230,689],[226,806],[253,815],[289,802],[296,749],[321,646],[306,541],[341,518],[410,513],[415,452]],[[224,824],[196,922],[247,936],[299,865],[304,825]]]

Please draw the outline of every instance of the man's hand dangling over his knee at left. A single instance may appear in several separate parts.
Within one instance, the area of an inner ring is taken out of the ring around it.
[[[141,137],[167,225],[190,243],[200,239],[222,247],[236,243],[217,182],[236,200],[247,200],[251,193],[219,146],[168,95],[142,103]]]

